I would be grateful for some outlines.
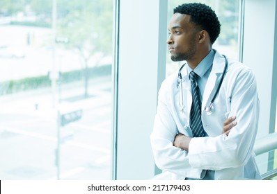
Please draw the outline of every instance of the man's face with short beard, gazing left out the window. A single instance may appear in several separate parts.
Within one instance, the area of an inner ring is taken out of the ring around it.
[[[190,16],[175,13],[169,22],[168,50],[171,60],[190,60],[197,49],[197,28],[189,21]]]

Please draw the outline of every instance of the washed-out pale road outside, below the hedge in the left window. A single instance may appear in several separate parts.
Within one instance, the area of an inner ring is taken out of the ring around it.
[[[57,179],[58,129],[60,179],[111,179],[111,76],[90,80],[90,98],[82,86],[0,96],[0,179]],[[82,118],[58,127],[63,107],[82,109]]]

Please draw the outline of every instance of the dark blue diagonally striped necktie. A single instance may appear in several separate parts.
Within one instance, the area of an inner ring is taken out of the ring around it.
[[[192,95],[190,125],[193,137],[205,136],[203,124],[201,121],[201,100],[199,96],[199,87],[196,82],[197,78],[198,75],[194,71],[191,71],[191,73],[189,73],[189,80],[191,80]]]

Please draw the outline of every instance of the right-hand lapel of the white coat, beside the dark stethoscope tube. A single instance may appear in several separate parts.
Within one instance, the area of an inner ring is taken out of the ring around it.
[[[219,85],[219,81],[221,79],[221,75],[224,71],[225,67],[225,58],[219,52],[216,51],[214,55],[214,62],[212,64],[212,71],[209,74],[209,78],[207,79],[207,83],[204,89],[203,100],[202,100],[202,112],[205,109],[205,106],[211,102],[216,89]]]

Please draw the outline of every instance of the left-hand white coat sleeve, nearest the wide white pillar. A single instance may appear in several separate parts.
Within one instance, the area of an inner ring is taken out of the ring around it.
[[[187,151],[173,146],[177,126],[167,104],[170,102],[168,91],[168,84],[163,83],[159,90],[157,114],[150,136],[155,162],[161,170],[183,177],[200,178],[202,169],[191,168]]]

